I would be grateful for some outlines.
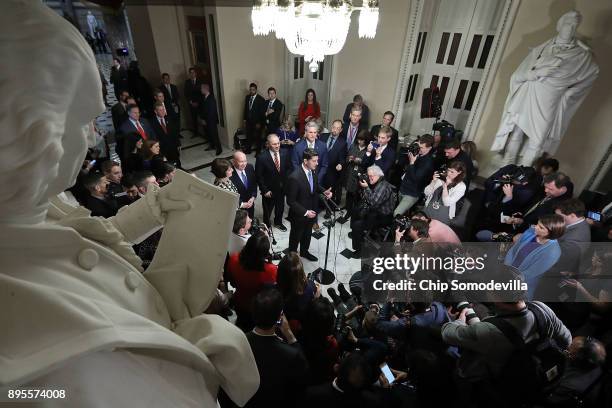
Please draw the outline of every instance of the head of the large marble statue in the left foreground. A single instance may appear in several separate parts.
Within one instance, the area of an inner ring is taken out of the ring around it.
[[[0,14],[0,223],[34,223],[74,184],[104,104],[82,35],[42,2],[10,3]]]

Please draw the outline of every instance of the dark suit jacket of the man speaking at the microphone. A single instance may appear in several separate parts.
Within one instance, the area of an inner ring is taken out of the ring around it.
[[[289,205],[289,219],[291,221],[304,221],[307,210],[318,212],[319,194],[323,192],[323,187],[319,185],[317,172],[313,172],[313,190],[310,191],[310,184],[306,173],[302,168],[297,167],[287,179],[287,205]]]

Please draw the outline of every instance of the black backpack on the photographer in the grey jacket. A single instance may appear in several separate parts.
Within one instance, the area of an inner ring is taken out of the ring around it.
[[[527,308],[534,315],[539,334],[538,339],[528,343],[505,319],[493,317],[486,320],[497,327],[514,346],[514,351],[494,383],[498,390],[516,402],[533,402],[550,392],[561,379],[567,359],[555,341],[546,336],[542,309],[533,303],[527,303]]]

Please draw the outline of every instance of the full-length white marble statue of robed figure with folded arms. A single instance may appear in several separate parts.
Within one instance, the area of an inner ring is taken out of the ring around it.
[[[597,79],[599,67],[590,48],[576,39],[581,19],[577,11],[561,16],[557,36],[532,49],[512,74],[510,93],[491,147],[492,151],[505,149],[507,164],[531,166],[543,152],[554,154]]]

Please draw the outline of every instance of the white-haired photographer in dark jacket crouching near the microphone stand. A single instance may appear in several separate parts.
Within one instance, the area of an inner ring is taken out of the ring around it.
[[[393,186],[384,179],[382,169],[376,165],[368,167],[367,179],[360,179],[359,186],[361,201],[351,219],[353,258],[361,256],[366,232],[391,225],[396,201]]]

